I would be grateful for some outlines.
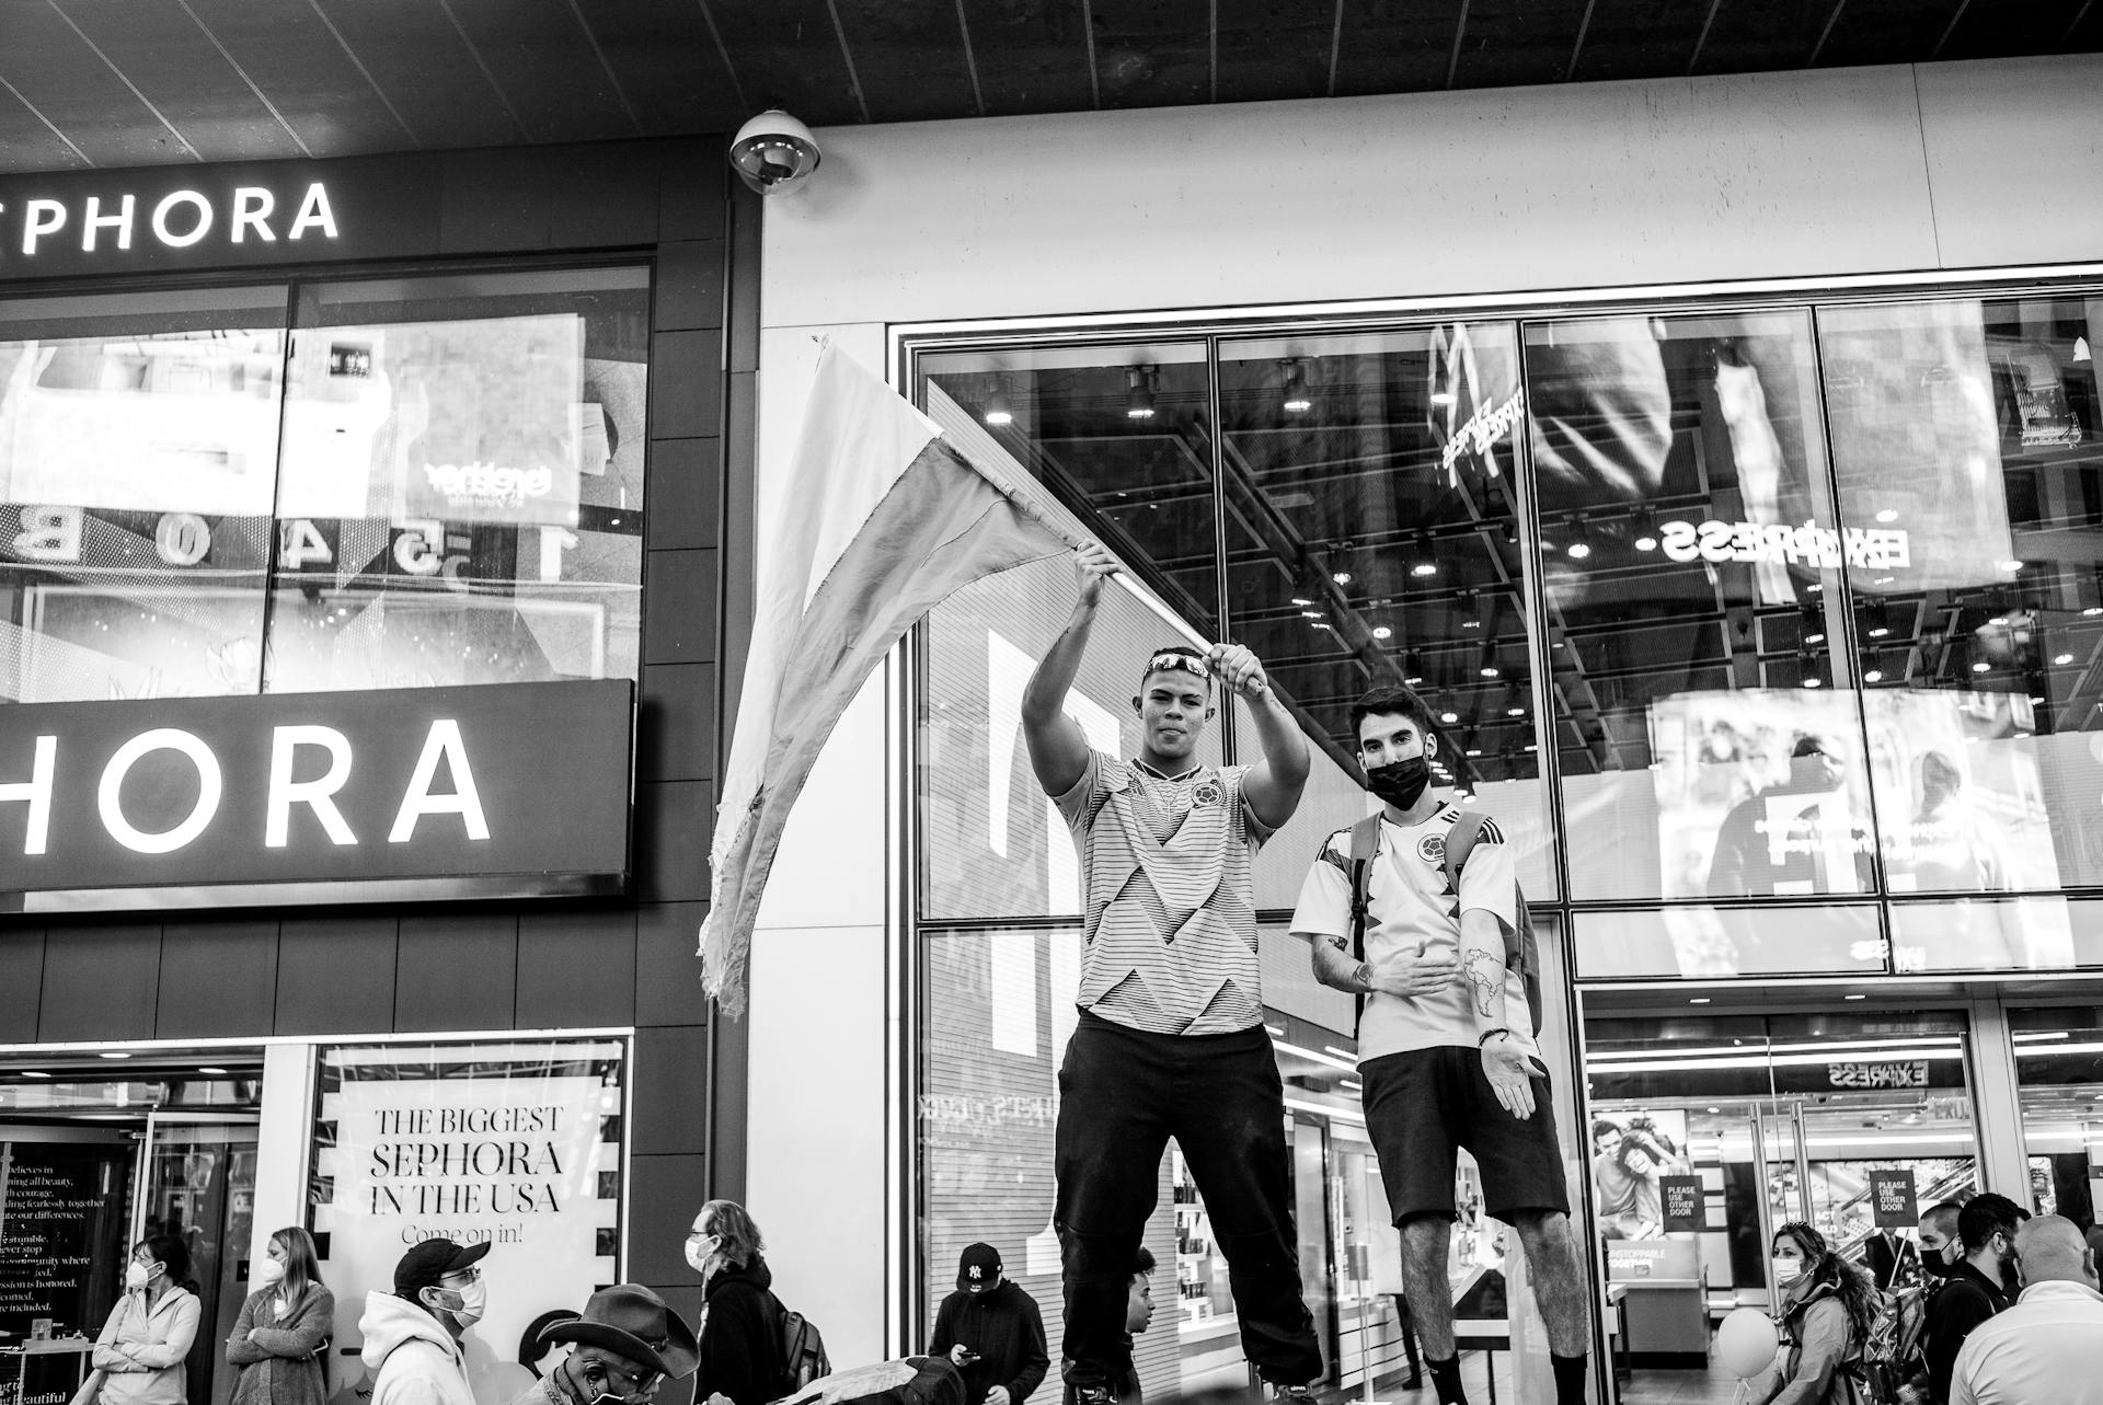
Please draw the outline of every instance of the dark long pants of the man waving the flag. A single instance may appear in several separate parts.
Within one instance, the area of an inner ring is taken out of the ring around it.
[[[1321,1376],[1300,1300],[1285,1085],[1262,1026],[1148,1035],[1081,1012],[1058,1071],[1058,1224],[1066,1382],[1125,1380],[1125,1294],[1173,1136],[1226,1256],[1241,1350],[1264,1380]]]

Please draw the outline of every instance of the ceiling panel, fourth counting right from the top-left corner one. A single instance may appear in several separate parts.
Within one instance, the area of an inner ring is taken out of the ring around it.
[[[273,0],[288,4],[290,0]],[[425,147],[494,147],[522,133],[437,4],[309,0]]]

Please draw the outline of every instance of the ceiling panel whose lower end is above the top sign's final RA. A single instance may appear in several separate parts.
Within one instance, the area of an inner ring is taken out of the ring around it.
[[[48,0],[208,162],[305,156],[210,36],[164,0]]]

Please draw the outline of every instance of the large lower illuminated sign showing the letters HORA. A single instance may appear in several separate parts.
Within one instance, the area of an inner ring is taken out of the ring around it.
[[[612,892],[633,684],[0,711],[0,911]]]

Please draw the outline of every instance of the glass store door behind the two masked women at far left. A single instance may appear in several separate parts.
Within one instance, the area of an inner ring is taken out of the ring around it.
[[[254,1220],[257,1123],[254,1113],[154,1111],[145,1119],[130,1239],[172,1235],[189,1249],[198,1283],[198,1338],[187,1361],[193,1405],[225,1405],[233,1388],[223,1344],[248,1287],[240,1254]]]

